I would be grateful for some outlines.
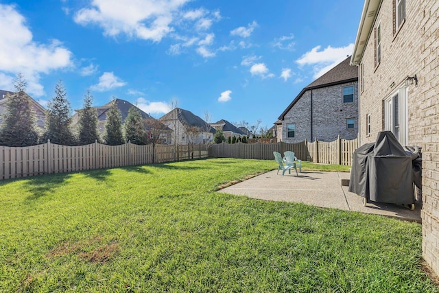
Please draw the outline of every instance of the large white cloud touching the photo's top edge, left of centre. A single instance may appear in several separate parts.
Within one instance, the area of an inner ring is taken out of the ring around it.
[[[106,36],[129,37],[160,42],[172,21],[189,0],[93,0],[89,8],[76,12],[74,21],[81,25],[97,24]]]

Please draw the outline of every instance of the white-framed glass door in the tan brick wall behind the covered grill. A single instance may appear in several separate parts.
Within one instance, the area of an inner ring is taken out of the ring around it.
[[[407,88],[397,89],[384,101],[384,128],[407,145]]]

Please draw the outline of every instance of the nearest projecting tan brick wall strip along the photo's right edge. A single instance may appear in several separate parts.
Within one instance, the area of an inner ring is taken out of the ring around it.
[[[439,1],[422,1],[420,117],[423,137],[423,257],[439,274]],[[419,38],[419,36],[418,36]]]

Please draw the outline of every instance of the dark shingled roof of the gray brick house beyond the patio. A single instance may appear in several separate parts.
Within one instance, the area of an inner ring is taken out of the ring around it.
[[[333,69],[324,73],[320,78],[314,80],[308,84],[305,88],[300,91],[300,93],[293,99],[293,102],[283,111],[281,116],[278,117],[279,120],[283,120],[285,115],[293,108],[293,106],[298,102],[300,97],[304,93],[312,89],[320,89],[327,86],[335,86],[337,84],[345,84],[347,82],[357,82],[358,81],[358,69],[355,66],[349,65],[351,57],[344,59]]]

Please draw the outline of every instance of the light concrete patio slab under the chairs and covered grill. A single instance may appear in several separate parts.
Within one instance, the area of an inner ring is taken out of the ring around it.
[[[375,213],[401,220],[421,222],[420,204],[416,203],[414,211],[398,204],[368,202],[366,207],[361,204],[361,197],[348,191],[346,185],[349,173],[345,172],[313,172],[292,171],[292,174],[277,170],[255,176],[241,183],[219,190],[226,194],[248,196],[261,200],[277,200],[285,202],[302,202],[316,207]]]

